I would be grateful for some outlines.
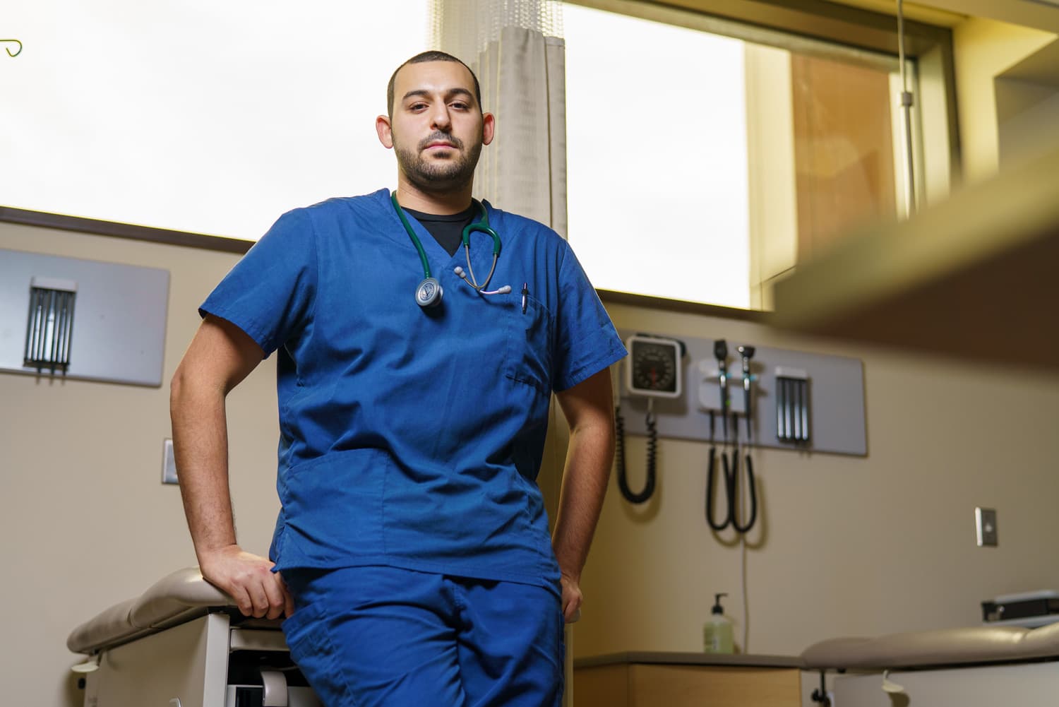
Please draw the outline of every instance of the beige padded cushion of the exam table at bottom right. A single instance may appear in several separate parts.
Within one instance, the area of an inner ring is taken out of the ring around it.
[[[1039,629],[973,626],[832,638],[802,653],[810,670],[894,670],[1059,658],[1059,623]]]

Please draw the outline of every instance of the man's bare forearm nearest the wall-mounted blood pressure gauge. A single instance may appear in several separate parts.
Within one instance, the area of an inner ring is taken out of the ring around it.
[[[574,580],[588,558],[613,459],[612,423],[595,421],[571,430],[552,545],[560,571]]]

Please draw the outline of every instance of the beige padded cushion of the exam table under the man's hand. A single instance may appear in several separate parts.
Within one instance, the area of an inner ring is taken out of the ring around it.
[[[67,638],[74,653],[95,653],[235,603],[204,579],[198,567],[167,575],[134,599],[114,604]]]

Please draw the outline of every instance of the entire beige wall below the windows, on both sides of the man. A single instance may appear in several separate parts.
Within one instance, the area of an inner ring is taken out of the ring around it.
[[[196,304],[234,255],[0,224],[0,248],[172,272],[165,378],[198,322]],[[999,593],[1059,586],[1059,381],[818,341],[761,325],[630,306],[623,328],[840,353],[865,364],[869,456],[757,455],[762,524],[748,551],[750,648],[794,653],[839,634],[969,624]],[[267,548],[276,511],[273,368],[233,393],[233,490],[240,540]],[[5,702],[77,703],[69,631],[195,558],[179,493],[160,483],[167,391],[0,375],[8,608]],[[561,436],[560,436],[561,439]],[[657,497],[632,509],[611,490],[585,577],[577,655],[698,650],[714,591],[739,619],[739,551],[702,517],[705,446],[663,440]],[[640,469],[643,446],[630,438]],[[550,452],[558,462],[559,453]],[[635,472],[633,472],[635,473]],[[633,481],[635,485],[635,481]],[[999,510],[1001,545],[974,547],[973,507]]]

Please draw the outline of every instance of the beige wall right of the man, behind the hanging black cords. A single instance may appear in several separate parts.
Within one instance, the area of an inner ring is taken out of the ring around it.
[[[750,650],[970,625],[998,594],[1059,587],[1059,377],[797,339],[748,322],[609,307],[636,331],[863,360],[868,456],[755,454],[764,517],[749,536]],[[713,594],[726,591],[742,642],[740,550],[703,518],[707,446],[662,440],[656,498],[616,484],[586,569],[576,655],[701,650]],[[630,470],[643,444],[630,438]],[[642,476],[630,471],[630,485]],[[975,506],[998,510],[1000,546],[975,546]]]

